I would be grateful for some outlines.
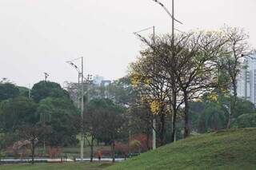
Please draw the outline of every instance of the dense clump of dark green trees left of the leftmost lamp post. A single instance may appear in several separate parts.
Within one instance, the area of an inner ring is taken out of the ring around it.
[[[16,150],[23,147],[22,143],[28,144],[32,161],[37,145],[46,152],[46,146],[78,144],[78,129],[73,123],[77,115],[69,93],[58,83],[40,81],[31,93],[8,81],[0,83],[1,148],[13,146]]]

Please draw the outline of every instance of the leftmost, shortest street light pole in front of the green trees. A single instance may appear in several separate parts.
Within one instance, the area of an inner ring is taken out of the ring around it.
[[[73,61],[77,61],[81,59],[81,70],[78,68],[77,65],[74,65]],[[78,71],[78,83],[79,83],[79,77],[81,75],[82,80],[81,80],[81,84],[82,84],[82,93],[81,93],[81,139],[80,139],[80,145],[81,145],[81,149],[80,149],[80,159],[81,161],[83,161],[83,145],[84,145],[84,127],[83,127],[83,110],[84,110],[84,101],[83,101],[83,95],[84,95],[84,86],[83,86],[83,82],[84,82],[84,77],[83,77],[83,57],[78,57],[72,61],[67,61],[68,64],[70,64],[71,66],[74,67],[74,69],[76,69]]]

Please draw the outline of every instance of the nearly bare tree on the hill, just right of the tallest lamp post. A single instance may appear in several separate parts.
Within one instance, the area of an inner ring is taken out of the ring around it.
[[[184,100],[184,137],[190,134],[189,100],[212,90],[216,84],[215,60],[222,55],[226,40],[217,32],[181,34],[175,76]]]

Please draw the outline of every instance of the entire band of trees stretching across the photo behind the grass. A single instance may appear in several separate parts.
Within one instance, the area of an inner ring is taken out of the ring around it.
[[[1,81],[0,150],[30,140],[34,159],[37,145],[78,146],[82,128],[91,161],[98,143],[110,145],[114,160],[116,153],[134,152],[133,145],[138,152],[151,149],[153,129],[161,146],[191,134],[256,126],[254,105],[237,93],[242,62],[251,53],[244,30],[225,26],[140,40],[143,49],[126,77],[106,86],[85,84],[83,121],[81,84],[62,89],[40,81],[29,93]]]

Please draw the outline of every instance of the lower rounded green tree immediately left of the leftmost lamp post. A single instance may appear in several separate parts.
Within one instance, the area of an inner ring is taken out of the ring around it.
[[[47,97],[40,101],[38,117],[41,125],[51,127],[50,134],[46,135],[46,142],[52,146],[69,146],[77,144],[77,125],[74,123],[78,117],[78,110],[73,101],[68,98]]]

